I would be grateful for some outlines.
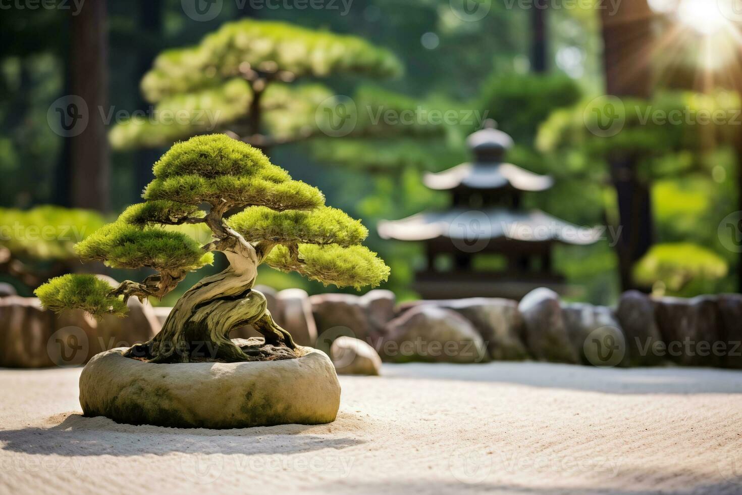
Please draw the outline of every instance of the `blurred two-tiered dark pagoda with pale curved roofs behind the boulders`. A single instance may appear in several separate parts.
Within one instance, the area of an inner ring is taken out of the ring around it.
[[[494,121],[485,122],[467,138],[472,162],[424,175],[429,189],[449,192],[448,209],[379,223],[384,239],[425,243],[427,263],[413,286],[421,297],[520,299],[540,286],[563,293],[554,244],[587,245],[600,237],[598,229],[523,208],[524,193],[546,191],[554,180],[505,163],[512,146]]]

